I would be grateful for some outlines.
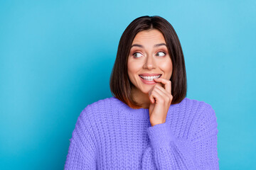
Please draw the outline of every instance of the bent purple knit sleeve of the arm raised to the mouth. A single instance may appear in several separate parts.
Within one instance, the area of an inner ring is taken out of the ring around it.
[[[147,129],[150,143],[142,158],[142,169],[219,169],[217,118],[206,104],[191,138],[177,138],[167,123]]]

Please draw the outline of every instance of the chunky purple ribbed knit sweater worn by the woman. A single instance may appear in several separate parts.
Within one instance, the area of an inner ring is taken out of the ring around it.
[[[215,111],[203,101],[183,98],[151,126],[149,109],[105,98],[80,113],[65,169],[219,169],[217,134]]]

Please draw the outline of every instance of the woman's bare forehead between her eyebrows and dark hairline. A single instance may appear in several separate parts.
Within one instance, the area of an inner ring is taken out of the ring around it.
[[[142,30],[137,33],[132,43],[139,42],[165,42],[165,39],[164,35],[159,30]]]

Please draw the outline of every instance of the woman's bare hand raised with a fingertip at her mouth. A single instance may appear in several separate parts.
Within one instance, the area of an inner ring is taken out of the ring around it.
[[[173,99],[170,80],[158,78],[154,81],[158,83],[149,91],[149,120],[151,126],[165,123]],[[164,84],[164,87],[160,84]]]

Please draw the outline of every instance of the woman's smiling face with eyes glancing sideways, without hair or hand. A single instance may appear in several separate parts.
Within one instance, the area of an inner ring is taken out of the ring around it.
[[[161,78],[171,79],[172,62],[166,47],[164,35],[159,30],[143,30],[135,36],[128,57],[128,76],[140,94],[148,94],[156,84],[151,78],[161,74]],[[146,76],[144,80],[140,76]],[[164,87],[164,85],[161,84]]]

